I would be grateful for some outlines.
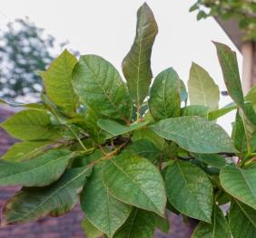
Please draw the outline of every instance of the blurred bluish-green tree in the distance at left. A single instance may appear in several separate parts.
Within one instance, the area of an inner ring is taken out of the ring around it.
[[[16,19],[0,32],[0,97],[5,100],[37,98],[44,70],[54,58],[55,39],[28,18]],[[39,97],[38,97],[39,98]]]

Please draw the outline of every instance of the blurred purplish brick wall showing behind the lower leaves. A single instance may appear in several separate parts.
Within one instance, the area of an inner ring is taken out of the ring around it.
[[[12,111],[0,106],[0,122],[12,115]],[[0,129],[0,156],[15,143],[14,138],[10,138],[3,129]],[[5,201],[15,194],[19,187],[0,186],[0,208]],[[45,217],[32,224],[13,225],[0,228],[0,238],[83,238],[84,233],[80,224],[84,214],[77,206],[70,214],[65,214],[58,218]],[[170,215],[172,229],[168,235],[158,231],[155,238],[187,238],[190,237],[191,229],[182,224],[182,218],[174,214]],[[138,237],[140,238],[140,237]]]

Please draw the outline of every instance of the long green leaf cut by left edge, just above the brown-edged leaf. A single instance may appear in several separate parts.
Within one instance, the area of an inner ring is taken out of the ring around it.
[[[0,186],[47,186],[64,173],[72,153],[52,149],[25,162],[0,160]]]

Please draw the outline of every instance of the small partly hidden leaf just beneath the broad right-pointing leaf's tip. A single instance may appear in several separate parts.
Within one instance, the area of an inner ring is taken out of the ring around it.
[[[217,154],[196,154],[195,157],[212,167],[222,168],[228,164],[224,157]]]

